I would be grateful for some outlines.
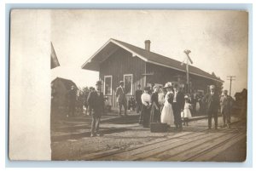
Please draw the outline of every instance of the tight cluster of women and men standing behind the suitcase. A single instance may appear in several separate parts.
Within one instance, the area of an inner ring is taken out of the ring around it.
[[[185,98],[183,92],[180,91],[177,84],[166,83],[164,88],[154,85],[152,93],[150,88],[144,88],[141,100],[137,95],[138,109],[141,108],[139,123],[144,128],[150,127],[150,123],[167,123],[169,126],[175,125],[182,130],[182,111],[184,109]],[[183,118],[191,117],[188,112],[183,112]]]

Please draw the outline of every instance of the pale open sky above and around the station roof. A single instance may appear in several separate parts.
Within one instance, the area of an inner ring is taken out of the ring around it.
[[[52,79],[72,79],[79,87],[94,86],[99,73],[81,69],[110,38],[183,61],[224,80],[236,76],[231,95],[247,88],[248,18],[242,11],[65,10],[51,11],[51,41],[60,62]]]

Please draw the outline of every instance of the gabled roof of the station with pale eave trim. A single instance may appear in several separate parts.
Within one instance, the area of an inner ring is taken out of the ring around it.
[[[113,44],[115,46],[113,46]],[[99,71],[99,64],[102,61],[108,59],[108,57],[111,55],[110,48],[112,47],[124,48],[125,50],[129,51],[132,54],[132,56],[137,56],[138,58],[148,63],[152,63],[158,66],[165,66],[177,71],[184,71],[184,72],[186,71],[186,66],[185,65],[181,66],[181,62],[178,60],[173,60],[166,56],[156,54],[154,52],[145,50],[143,48],[138,48],[129,43],[124,43],[115,39],[109,39],[108,42],[105,43],[102,46],[102,48],[100,48],[96,52],[96,54],[92,55],[90,59],[84,63],[84,65],[82,66],[82,69]],[[103,55],[103,54],[108,54],[108,55]],[[201,69],[195,66],[189,66],[189,74],[193,74],[199,77],[207,77],[214,81],[223,82],[221,79],[218,79],[217,77],[214,77],[211,74],[207,73],[206,71],[202,71]]]

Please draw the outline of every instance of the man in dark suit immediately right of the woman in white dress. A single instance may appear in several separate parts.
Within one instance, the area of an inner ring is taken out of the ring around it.
[[[173,86],[173,101],[172,101],[172,108],[173,108],[173,115],[174,115],[174,124],[177,129],[182,130],[183,124],[181,119],[181,111],[184,109],[184,94],[179,90],[178,85],[174,84]]]

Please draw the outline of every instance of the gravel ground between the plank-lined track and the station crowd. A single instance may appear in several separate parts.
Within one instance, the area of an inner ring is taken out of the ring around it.
[[[238,118],[232,117],[232,122]],[[218,118],[218,125],[222,125],[222,118]],[[55,141],[51,144],[52,160],[77,160],[79,157],[97,151],[125,150],[137,145],[146,145],[154,141],[166,140],[178,134],[171,128],[167,133],[150,133],[148,128],[142,128],[137,123],[114,124],[102,123],[102,128],[125,128],[122,132],[104,134],[101,137],[79,137],[74,140]],[[183,132],[194,132],[207,129],[207,120],[202,119],[189,123],[183,127]],[[81,130],[79,130],[81,131]]]

